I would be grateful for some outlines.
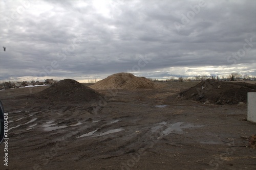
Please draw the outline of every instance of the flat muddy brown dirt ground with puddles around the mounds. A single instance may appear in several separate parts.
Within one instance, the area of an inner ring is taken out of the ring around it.
[[[256,169],[247,105],[177,98],[198,83],[97,90],[100,102],[34,96],[49,86],[0,91],[9,119],[0,169]]]

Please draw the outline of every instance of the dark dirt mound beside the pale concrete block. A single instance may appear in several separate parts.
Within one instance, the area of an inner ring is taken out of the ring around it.
[[[247,103],[247,92],[255,92],[256,84],[220,82],[207,79],[194,87],[181,92],[184,99],[213,103],[213,104],[239,104]]]

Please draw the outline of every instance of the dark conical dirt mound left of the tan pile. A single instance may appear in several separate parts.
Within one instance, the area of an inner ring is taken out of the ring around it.
[[[61,80],[49,88],[36,94],[38,99],[49,99],[51,101],[95,101],[100,94],[90,87],[72,80]]]

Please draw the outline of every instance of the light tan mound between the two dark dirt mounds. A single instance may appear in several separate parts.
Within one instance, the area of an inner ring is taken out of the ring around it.
[[[93,89],[105,90],[105,89],[147,89],[155,88],[155,84],[144,77],[136,77],[131,73],[120,72],[111,75],[101,81],[98,81],[94,85],[90,86]]]

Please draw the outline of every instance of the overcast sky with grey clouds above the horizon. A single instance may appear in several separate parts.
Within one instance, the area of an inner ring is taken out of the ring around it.
[[[256,76],[254,0],[0,2],[0,80]]]

